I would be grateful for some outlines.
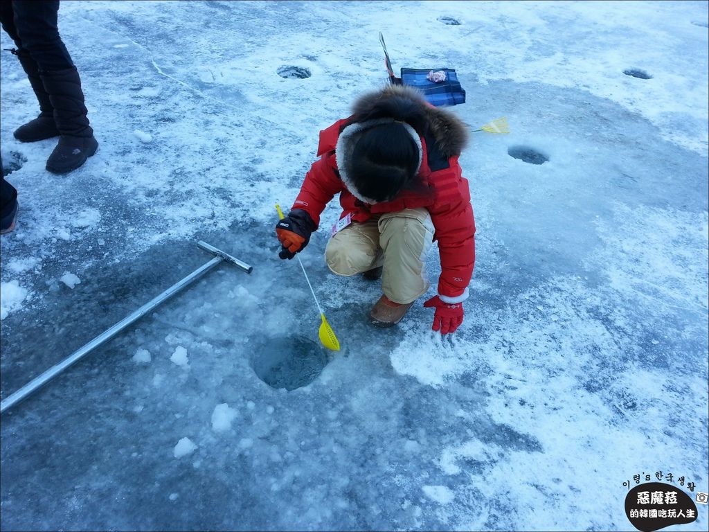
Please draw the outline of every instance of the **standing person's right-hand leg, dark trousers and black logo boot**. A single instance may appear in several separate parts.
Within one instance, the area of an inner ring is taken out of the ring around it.
[[[60,139],[47,170],[70,172],[96,153],[99,143],[89,126],[81,79],[57,27],[58,0],[13,0],[14,23],[22,46],[37,62]]]

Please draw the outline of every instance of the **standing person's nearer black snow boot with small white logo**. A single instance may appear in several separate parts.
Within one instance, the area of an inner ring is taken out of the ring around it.
[[[59,143],[47,160],[47,170],[65,174],[76,170],[96,153],[99,143],[89,126],[84,92],[76,67],[43,72],[42,81],[54,107],[54,121],[60,133]]]

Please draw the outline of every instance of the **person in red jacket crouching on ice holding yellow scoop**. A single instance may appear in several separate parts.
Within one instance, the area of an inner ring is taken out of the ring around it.
[[[308,245],[325,206],[340,193],[342,214],[325,249],[337,275],[381,277],[384,294],[369,318],[390,327],[430,286],[425,256],[438,241],[438,294],[433,330],[454,332],[475,262],[475,222],[458,157],[467,130],[411,87],[361,96],[350,118],[320,131],[318,156],[288,216],[277,224],[279,257]]]

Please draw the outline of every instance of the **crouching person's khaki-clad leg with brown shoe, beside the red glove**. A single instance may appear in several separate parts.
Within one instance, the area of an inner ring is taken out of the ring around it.
[[[404,209],[379,218],[379,244],[384,250],[384,295],[369,314],[379,327],[396,325],[413,302],[430,286],[425,257],[433,243],[434,228],[426,209]]]

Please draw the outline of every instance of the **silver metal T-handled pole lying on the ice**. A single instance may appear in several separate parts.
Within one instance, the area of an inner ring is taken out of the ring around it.
[[[201,240],[199,243],[197,243],[200,248],[204,250],[208,250],[211,253],[215,253],[217,256],[214,257],[212,260],[207,262],[205,265],[199,267],[197,270],[194,270],[190,275],[187,277],[184,277],[184,279],[176,282],[175,284],[172,285],[172,287],[169,287],[167,290],[162,292],[159,296],[151,299],[148,301],[145,305],[141,306],[140,309],[137,311],[133,312],[133,314],[130,314],[129,316],[125,316],[121,321],[116,323],[113,327],[108,329],[108,331],[105,331],[104,333],[101,333],[99,336],[96,336],[93,340],[91,340],[89,343],[84,345],[82,348],[79,348],[79,350],[74,351],[72,355],[69,355],[65,360],[62,360],[62,362],[59,362],[57,365],[54,365],[50,367],[47,371],[45,371],[42,375],[39,377],[35,377],[35,379],[32,379],[30,382],[25,384],[23,387],[18,389],[17,392],[11,394],[10,397],[3,399],[0,401],[0,414],[2,414],[4,411],[7,409],[11,408],[12,406],[16,405],[23,399],[26,399],[30,394],[33,394],[35,391],[37,391],[40,387],[44,386],[50,380],[52,380],[54,377],[59,375],[62,371],[66,370],[67,367],[73,365],[74,363],[78,362],[84,356],[88,355],[99,347],[99,345],[106,343],[108,340],[111,340],[113,336],[116,336],[118,333],[123,331],[124,328],[128,327],[130,324],[135,323],[135,321],[138,321],[140,318],[145,316],[148,312],[150,312],[152,309],[155,309],[156,306],[161,304],[163,301],[166,299],[169,299],[172,297],[174,294],[177,294],[180,290],[182,290],[184,287],[186,287],[188,284],[191,282],[194,282],[196,279],[199,279],[199,277],[202,277],[206,272],[211,270],[213,267],[218,265],[220,262],[223,260],[228,260],[228,262],[233,262],[235,265],[240,267],[242,270],[244,270],[247,273],[251,273],[253,270],[253,267],[250,265],[247,265],[245,262],[241,262],[238,259],[235,259],[231,255],[227,255],[223,251],[218,250],[217,248],[213,248],[211,245],[202,242]]]

